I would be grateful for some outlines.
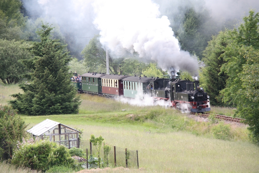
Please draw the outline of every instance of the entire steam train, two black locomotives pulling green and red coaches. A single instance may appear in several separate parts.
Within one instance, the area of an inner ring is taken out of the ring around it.
[[[71,82],[82,93],[127,98],[143,98],[147,94],[154,101],[167,101],[176,109],[187,106],[191,112],[210,111],[210,97],[199,87],[199,81],[88,72],[81,75],[81,81]]]

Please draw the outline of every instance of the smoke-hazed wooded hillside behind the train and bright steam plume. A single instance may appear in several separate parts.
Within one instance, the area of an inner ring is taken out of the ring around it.
[[[36,32],[47,23],[53,27],[48,39],[57,40],[63,45],[62,51],[68,51],[67,56],[72,57],[67,61],[68,71],[106,72],[106,52],[99,41],[99,31],[89,22],[93,19],[90,2],[82,5],[84,13],[80,13],[69,8],[69,1],[1,0],[2,83],[31,80],[34,69],[26,62],[37,56],[33,51],[35,42],[41,42],[42,38]],[[258,3],[248,1],[243,10],[238,5],[232,8],[232,1],[227,5],[222,2],[222,7],[217,8],[221,11],[215,11],[210,8],[215,5],[210,1],[155,2],[160,4],[161,15],[170,20],[181,49],[199,59],[200,84],[210,95],[210,104],[237,108],[237,114],[247,120],[258,140],[259,15],[258,9],[254,9]],[[229,6],[229,11],[221,14]],[[170,77],[156,62],[139,59],[136,53],[120,57],[109,53],[109,67],[112,74]],[[179,70],[177,78],[192,78]]]

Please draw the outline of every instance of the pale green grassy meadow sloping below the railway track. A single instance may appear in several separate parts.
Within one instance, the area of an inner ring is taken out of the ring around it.
[[[17,85],[0,85],[0,94],[5,96],[0,104],[7,103],[8,94],[18,92]],[[91,134],[102,135],[107,144],[138,150],[139,165],[147,172],[259,170],[259,147],[249,142],[244,126],[231,125],[230,139],[223,141],[210,132],[215,124],[197,122],[175,109],[133,106],[88,94],[81,94],[81,99],[79,114],[21,117],[28,129],[48,118],[83,129],[83,141],[89,141]],[[212,111],[232,115],[234,109],[212,107]]]

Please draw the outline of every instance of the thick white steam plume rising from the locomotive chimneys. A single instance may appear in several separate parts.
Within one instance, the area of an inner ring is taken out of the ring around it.
[[[99,0],[93,4],[94,24],[100,30],[100,42],[114,52],[137,52],[154,60],[173,78],[177,70],[197,76],[197,59],[180,51],[167,16],[160,15],[159,5],[151,0]]]

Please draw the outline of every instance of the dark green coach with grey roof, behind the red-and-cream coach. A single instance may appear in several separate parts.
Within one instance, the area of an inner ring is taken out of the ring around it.
[[[101,78],[106,74],[85,73],[82,77],[82,91],[85,93],[102,94]]]

